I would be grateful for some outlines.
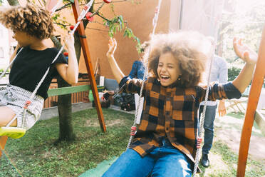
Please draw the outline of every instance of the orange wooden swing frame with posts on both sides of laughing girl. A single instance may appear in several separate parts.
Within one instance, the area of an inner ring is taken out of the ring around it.
[[[78,4],[78,0],[74,0],[74,4],[72,4],[72,8],[73,8],[73,14],[77,22],[78,15],[80,14],[80,7]],[[106,128],[105,128],[102,108],[101,108],[100,101],[99,101],[98,89],[95,83],[95,77],[93,75],[93,66],[92,66],[91,59],[90,59],[88,44],[85,39],[85,29],[83,26],[83,21],[81,21],[80,25],[78,26],[78,34],[80,35],[80,43],[83,49],[85,65],[88,71],[88,77],[90,79],[90,83],[92,86],[91,89],[93,91],[95,107],[98,112],[98,119],[100,121],[100,127],[102,131],[105,132]],[[265,27],[263,29],[262,36],[261,36],[261,43],[259,46],[259,57],[256,63],[256,69],[254,71],[254,77],[251,83],[251,89],[249,92],[249,100],[247,103],[246,114],[244,118],[244,125],[241,131],[241,141],[239,145],[239,158],[238,158],[238,164],[237,164],[237,177],[245,176],[246,161],[247,161],[247,156],[249,152],[249,142],[251,138],[251,131],[252,131],[252,127],[254,124],[256,107],[259,102],[259,96],[261,93],[261,89],[262,89],[262,85],[264,83],[264,77],[265,77],[265,70],[263,66],[265,66]],[[55,96],[56,93],[53,93],[52,95]],[[7,136],[0,136],[0,148],[1,149],[4,149],[7,138],[8,138]],[[0,151],[0,157],[1,157],[1,151]]]

